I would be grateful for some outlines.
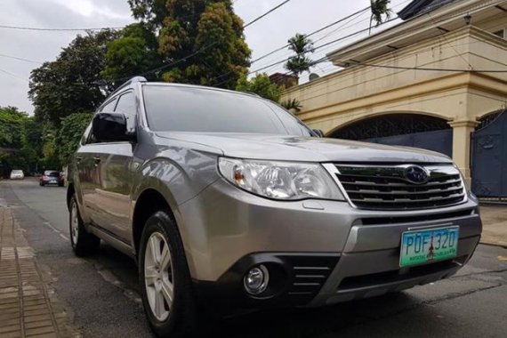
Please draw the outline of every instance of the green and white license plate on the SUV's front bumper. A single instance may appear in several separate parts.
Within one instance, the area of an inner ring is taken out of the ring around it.
[[[401,235],[399,266],[453,258],[458,253],[460,227],[406,231]]]

